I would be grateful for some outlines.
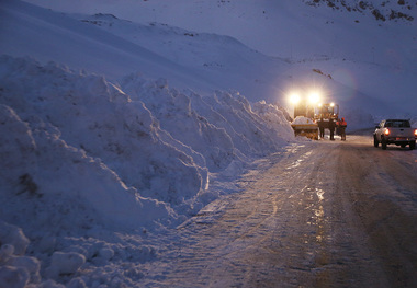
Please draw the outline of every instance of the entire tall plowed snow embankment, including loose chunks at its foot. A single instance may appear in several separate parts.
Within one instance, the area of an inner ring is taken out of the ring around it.
[[[132,261],[132,277],[114,274],[129,286],[142,277],[137,262],[154,257],[114,231],[180,223],[219,196],[211,173],[236,177],[293,135],[278,107],[241,95],[202,96],[137,76],[115,85],[2,56],[0,138],[0,221],[21,235],[0,235],[1,280],[92,287],[110,277],[100,273],[110,261]]]

